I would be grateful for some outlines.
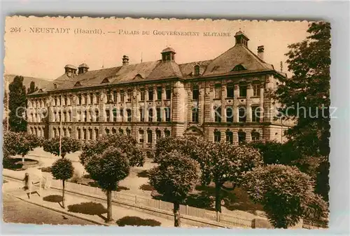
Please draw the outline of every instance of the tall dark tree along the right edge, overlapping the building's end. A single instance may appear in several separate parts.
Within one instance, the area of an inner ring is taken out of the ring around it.
[[[328,199],[330,137],[330,23],[313,22],[307,39],[288,46],[288,71],[272,97],[282,104],[279,111],[296,125],[287,135],[304,155],[325,157],[319,167],[316,191]]]

